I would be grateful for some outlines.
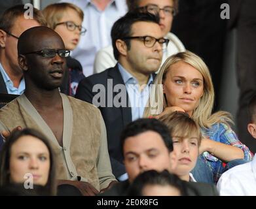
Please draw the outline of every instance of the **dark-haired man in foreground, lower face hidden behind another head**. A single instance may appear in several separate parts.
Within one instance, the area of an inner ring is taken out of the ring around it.
[[[115,184],[102,195],[127,195],[129,185],[146,170],[174,170],[176,166],[168,127],[156,119],[143,118],[128,124],[120,137],[129,179]],[[215,185],[183,182],[189,196],[218,195]]]

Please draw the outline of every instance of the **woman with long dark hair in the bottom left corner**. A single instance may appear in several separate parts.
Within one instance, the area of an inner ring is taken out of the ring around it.
[[[43,185],[41,195],[56,195],[55,155],[48,139],[38,131],[12,131],[1,150],[0,165],[1,186],[24,183],[33,189],[33,184]]]

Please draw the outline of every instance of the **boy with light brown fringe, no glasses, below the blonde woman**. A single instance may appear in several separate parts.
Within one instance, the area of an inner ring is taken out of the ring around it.
[[[174,174],[187,182],[196,182],[191,170],[194,169],[199,154],[202,134],[198,124],[185,112],[165,114],[158,120],[167,125],[174,144],[177,167]]]

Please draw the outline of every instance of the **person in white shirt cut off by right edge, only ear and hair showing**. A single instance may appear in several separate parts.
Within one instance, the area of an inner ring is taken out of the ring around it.
[[[251,122],[247,129],[256,138],[256,95],[249,102]],[[217,189],[223,196],[255,196],[256,195],[256,157],[249,163],[238,165],[224,172],[217,183]]]

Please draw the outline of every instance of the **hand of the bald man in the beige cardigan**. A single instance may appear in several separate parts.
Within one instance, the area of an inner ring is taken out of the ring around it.
[[[79,191],[81,191],[82,195],[84,196],[95,196],[99,193],[97,189],[95,189],[90,183],[88,182],[79,182],[79,181],[71,181],[71,180],[58,180],[58,185],[62,184],[69,184],[77,187]]]

